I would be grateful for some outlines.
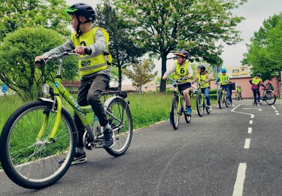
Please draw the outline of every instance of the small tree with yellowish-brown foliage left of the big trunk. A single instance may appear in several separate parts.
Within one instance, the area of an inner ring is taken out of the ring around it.
[[[131,67],[133,70],[126,69],[124,73],[131,79],[133,86],[135,86],[136,89],[139,88],[140,91],[141,87],[154,80],[157,74],[157,71],[153,72],[155,65],[151,59],[144,60],[142,64],[134,63]]]

